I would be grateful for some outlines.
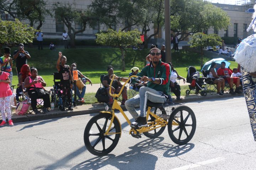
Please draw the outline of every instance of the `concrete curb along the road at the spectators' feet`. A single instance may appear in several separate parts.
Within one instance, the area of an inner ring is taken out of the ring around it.
[[[183,96],[182,101],[176,101],[173,99],[173,102],[195,102],[195,101],[203,101],[203,100],[214,100],[214,99],[221,99],[221,98],[233,98],[237,96],[244,96],[244,94],[225,94],[223,97],[215,95],[210,95],[209,93],[207,96],[200,96],[200,95],[190,95],[190,96]],[[125,106],[122,105],[121,108],[123,111],[127,111]],[[137,107],[139,108],[139,107]],[[56,108],[57,109],[57,108]],[[74,107],[74,111],[58,111],[54,110],[46,114],[26,114],[26,115],[16,115],[12,116],[12,120],[14,123],[18,122],[25,122],[25,121],[34,121],[34,120],[43,120],[43,119],[53,119],[53,118],[61,118],[61,117],[70,117],[76,115],[84,115],[84,114],[93,114],[98,113],[100,111],[105,111],[105,106],[103,103],[98,104],[85,104],[81,106]]]

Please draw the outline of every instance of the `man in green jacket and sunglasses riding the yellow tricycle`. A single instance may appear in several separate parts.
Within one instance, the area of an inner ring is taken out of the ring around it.
[[[164,103],[168,98],[168,88],[170,84],[170,65],[161,62],[161,52],[158,48],[149,51],[151,62],[147,64],[137,76],[142,77],[141,81],[148,81],[147,87],[140,87],[139,94],[125,102],[126,109],[135,119],[131,123],[132,128],[147,126],[146,102]],[[112,79],[112,76],[110,77]],[[128,78],[115,77],[118,81],[126,81]],[[135,83],[135,79],[130,79],[129,83]],[[140,106],[140,114],[134,107]]]

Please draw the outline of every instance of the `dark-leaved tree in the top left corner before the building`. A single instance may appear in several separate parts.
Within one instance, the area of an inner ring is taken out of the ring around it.
[[[46,5],[44,0],[0,0],[0,9],[9,12],[13,18],[16,18],[13,13],[16,12],[17,18],[28,19],[31,27],[39,22],[37,30],[42,27],[46,15],[52,16]]]

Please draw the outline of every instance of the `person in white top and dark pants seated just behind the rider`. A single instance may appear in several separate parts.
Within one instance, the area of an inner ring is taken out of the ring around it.
[[[182,98],[180,97],[180,94],[181,94],[180,85],[177,83],[176,79],[182,79],[183,83],[185,83],[186,80],[185,80],[185,78],[178,75],[178,73],[174,69],[174,66],[172,63],[168,63],[168,64],[170,65],[170,68],[171,68],[171,77],[170,77],[169,87],[171,88],[171,90],[175,94],[175,96],[177,97],[176,100],[182,100]]]

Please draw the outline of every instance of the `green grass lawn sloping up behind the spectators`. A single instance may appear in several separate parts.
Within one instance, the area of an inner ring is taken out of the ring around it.
[[[16,47],[12,48],[11,53],[16,49]],[[53,75],[51,74],[57,71],[55,66],[59,51],[62,51],[63,55],[67,57],[67,64],[71,65],[73,62],[76,62],[77,68],[82,74],[90,78],[94,84],[100,83],[101,74],[107,74],[108,65],[114,66],[114,74],[121,77],[128,77],[130,68],[136,66],[142,69],[145,66],[145,57],[148,55],[148,49],[142,51],[128,49],[125,58],[126,72],[122,72],[121,52],[116,48],[57,49],[57,51],[44,49],[39,51],[37,48],[28,48],[25,46],[25,50],[31,55],[28,64],[38,69],[38,74],[43,77],[47,86],[53,85]],[[211,60],[209,57],[203,58],[204,62],[209,60]],[[186,78],[186,68],[188,66],[195,66],[198,71],[200,70],[200,55],[182,50],[180,50],[180,52],[172,51],[172,63],[178,74]],[[230,61],[230,63],[231,69],[237,67],[237,64],[234,61]],[[16,70],[13,69],[13,72],[14,78],[12,84],[17,85],[18,79]]]

